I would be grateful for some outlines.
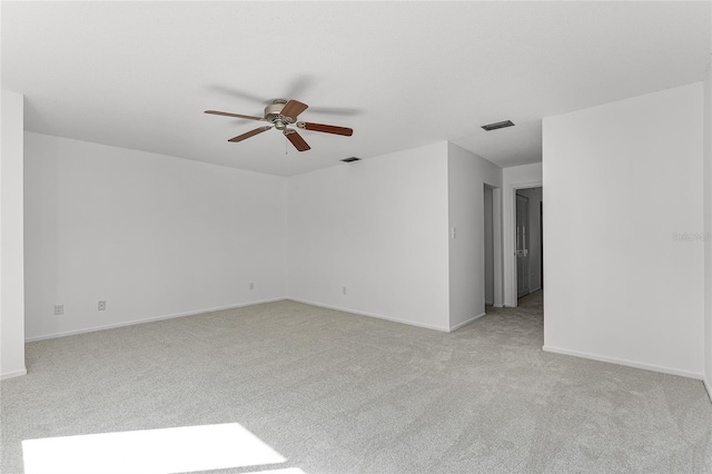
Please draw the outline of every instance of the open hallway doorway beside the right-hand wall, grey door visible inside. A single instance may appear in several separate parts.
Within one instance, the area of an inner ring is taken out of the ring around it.
[[[516,190],[516,295],[524,298],[543,289],[542,187]]]

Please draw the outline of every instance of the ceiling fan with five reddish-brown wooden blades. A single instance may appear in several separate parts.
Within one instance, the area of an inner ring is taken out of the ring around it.
[[[230,113],[230,112],[220,112],[218,110],[206,110],[206,113],[211,113],[216,116],[226,116],[226,117],[237,117],[244,118],[248,120],[258,120],[266,121],[271,125],[266,125],[264,127],[256,128],[246,134],[238,135],[237,137],[230,138],[227,141],[243,141],[249,137],[254,137],[255,135],[261,134],[263,131],[267,131],[270,128],[276,128],[277,130],[281,130],[281,132],[287,137],[287,139],[294,145],[294,147],[299,151],[306,151],[310,149],[309,145],[301,138],[301,136],[294,128],[289,128],[289,126],[295,126],[297,128],[301,128],[305,130],[312,131],[323,131],[325,134],[334,134],[334,135],[343,135],[345,137],[350,137],[354,134],[354,130],[346,127],[337,127],[334,125],[324,125],[324,124],[312,124],[308,121],[297,121],[297,116],[305,111],[309,106],[306,103],[301,103],[298,100],[284,100],[276,99],[273,100],[270,105],[265,107],[265,116],[264,117],[255,117],[255,116],[244,116],[240,113]]]

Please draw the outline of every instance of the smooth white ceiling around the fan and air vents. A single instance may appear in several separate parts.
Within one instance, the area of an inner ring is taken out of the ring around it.
[[[26,128],[290,176],[451,140],[541,161],[542,117],[702,80],[710,2],[7,2],[2,88]],[[269,99],[350,138],[277,131]],[[516,126],[485,132],[479,126]],[[285,150],[288,154],[285,154]]]

